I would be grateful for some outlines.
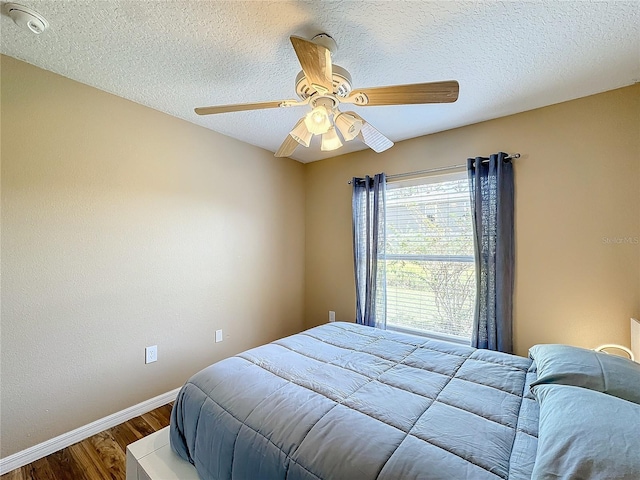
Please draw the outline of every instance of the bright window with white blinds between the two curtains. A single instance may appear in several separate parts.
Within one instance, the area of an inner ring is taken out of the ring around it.
[[[385,267],[388,328],[471,338],[475,263],[465,173],[387,184]]]

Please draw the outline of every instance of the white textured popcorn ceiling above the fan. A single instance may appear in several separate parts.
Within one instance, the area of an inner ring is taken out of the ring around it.
[[[5,2],[2,2],[5,3]],[[294,99],[289,36],[326,32],[355,87],[458,80],[456,103],[355,107],[393,141],[640,81],[640,1],[17,0],[40,36],[2,16],[2,53],[275,152],[308,107],[200,117],[194,107]],[[292,156],[333,152],[317,142]]]

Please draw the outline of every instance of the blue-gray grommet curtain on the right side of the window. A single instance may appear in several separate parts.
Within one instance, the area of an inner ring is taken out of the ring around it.
[[[506,153],[469,158],[476,261],[471,346],[513,352],[513,165]]]

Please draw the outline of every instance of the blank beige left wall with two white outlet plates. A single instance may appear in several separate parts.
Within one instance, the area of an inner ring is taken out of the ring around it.
[[[3,458],[302,328],[302,164],[1,67]]]

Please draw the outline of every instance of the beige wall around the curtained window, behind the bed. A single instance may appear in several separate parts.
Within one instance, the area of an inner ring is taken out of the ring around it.
[[[306,166],[306,325],[355,316],[353,176],[520,152],[516,352],[536,343],[629,345],[640,315],[640,85]],[[617,241],[617,240],[613,240]]]

